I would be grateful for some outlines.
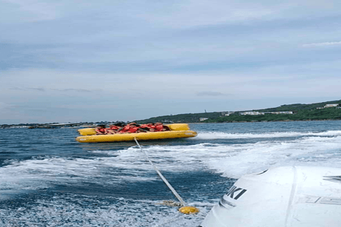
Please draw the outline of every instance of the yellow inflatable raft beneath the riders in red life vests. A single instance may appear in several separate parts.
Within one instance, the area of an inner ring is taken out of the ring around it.
[[[124,133],[113,135],[95,135],[95,128],[83,128],[78,132],[82,136],[78,136],[76,140],[80,143],[97,143],[97,142],[120,142],[136,140],[162,140],[171,138],[189,138],[197,136],[195,131],[190,131],[187,123],[172,123],[167,125],[171,131],[149,132],[149,133]]]

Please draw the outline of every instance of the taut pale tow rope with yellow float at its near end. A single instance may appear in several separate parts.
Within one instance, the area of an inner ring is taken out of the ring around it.
[[[140,150],[144,153],[144,156],[146,156],[146,159],[148,160],[149,163],[151,163],[151,165],[153,166],[154,170],[158,173],[158,175],[161,177],[161,179],[163,180],[163,182],[168,186],[169,189],[171,189],[171,191],[173,192],[173,194],[175,195],[175,197],[178,199],[178,201],[180,201],[180,206],[182,206],[179,211],[183,214],[197,214],[197,212],[199,212],[199,209],[197,209],[194,206],[186,206],[185,201],[183,201],[183,199],[181,198],[181,196],[178,194],[178,192],[175,191],[175,189],[172,187],[171,184],[169,184],[168,180],[163,177],[163,175],[161,174],[161,172],[158,170],[158,168],[156,167],[156,165],[153,164],[153,162],[151,162],[151,160],[149,159],[147,153],[145,150],[143,150],[139,144],[139,142],[137,142],[136,137],[134,137],[134,140],[136,142],[136,144],[139,146]]]

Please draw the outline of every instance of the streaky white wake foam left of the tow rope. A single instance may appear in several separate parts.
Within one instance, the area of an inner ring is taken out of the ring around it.
[[[130,149],[129,149],[130,150]],[[125,157],[126,152],[121,155]],[[141,154],[136,154],[137,156]],[[130,156],[130,155],[129,155]],[[153,171],[146,162],[125,162],[115,157],[94,159],[40,157],[33,160],[12,161],[10,165],[0,168],[0,199],[9,194],[26,190],[44,189],[53,184],[77,184],[77,182],[93,182],[94,178],[103,178],[99,184],[117,184],[122,181],[151,181],[157,177],[146,177],[141,172]],[[136,157],[136,159],[138,159]],[[111,171],[110,168],[122,169]],[[109,180],[106,178],[109,177]]]

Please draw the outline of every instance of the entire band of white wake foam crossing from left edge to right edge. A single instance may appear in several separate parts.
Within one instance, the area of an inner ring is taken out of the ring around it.
[[[330,132],[325,134],[331,135]],[[239,178],[278,165],[341,167],[341,136],[323,137],[316,133],[312,137],[284,142],[269,140],[242,144],[152,145],[143,149],[161,172],[208,169],[225,177]],[[50,184],[60,182],[91,182],[95,177],[102,177],[99,183],[106,185],[122,181],[158,180],[157,175],[153,174],[153,167],[136,146],[124,150],[92,152],[112,156],[87,159],[39,157],[12,161],[10,165],[0,168],[0,190],[20,192],[50,187]]]

